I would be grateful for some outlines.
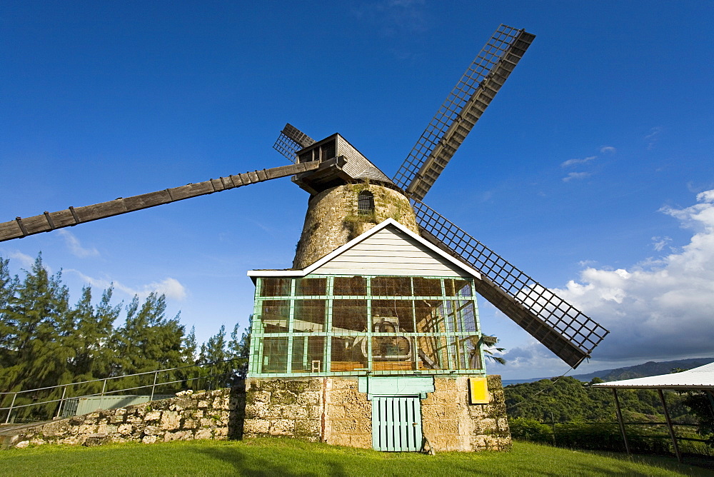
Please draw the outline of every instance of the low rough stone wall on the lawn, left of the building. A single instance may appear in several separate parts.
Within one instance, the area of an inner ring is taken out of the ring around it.
[[[84,416],[3,431],[3,448],[45,443],[96,446],[110,442],[241,438],[243,386],[95,411]]]

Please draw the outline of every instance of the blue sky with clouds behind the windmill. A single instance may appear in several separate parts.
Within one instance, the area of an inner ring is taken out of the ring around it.
[[[498,24],[536,35],[426,203],[613,333],[579,371],[714,356],[714,4],[0,6],[0,221],[286,164],[291,122],[388,175]],[[159,290],[199,341],[247,323],[306,194],[279,179],[0,243],[79,298]],[[3,218],[4,217],[4,218]],[[568,366],[481,301],[504,378]]]

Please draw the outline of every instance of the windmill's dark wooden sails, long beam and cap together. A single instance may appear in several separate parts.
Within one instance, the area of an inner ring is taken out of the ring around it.
[[[578,366],[590,356],[608,331],[422,202],[534,38],[533,34],[524,30],[499,26],[447,96],[392,179],[338,134],[314,141],[287,124],[274,147],[295,164],[92,206],[45,212],[26,219],[17,217],[0,224],[0,241],[284,176],[295,176],[293,181],[312,196],[350,181],[373,181],[403,197],[395,200],[403,200],[407,206],[411,202],[416,214],[411,215],[416,218],[413,229],[424,239],[481,273],[482,279],[478,281],[476,290],[481,296],[563,361],[570,366]],[[409,221],[408,218],[405,220]],[[411,228],[409,224],[405,225]],[[310,232],[307,234],[309,236]],[[306,231],[303,231],[305,235]],[[345,241],[340,240],[342,243]],[[325,249],[313,254],[315,257],[324,255],[342,243],[327,244]],[[306,258],[305,261],[314,259]]]

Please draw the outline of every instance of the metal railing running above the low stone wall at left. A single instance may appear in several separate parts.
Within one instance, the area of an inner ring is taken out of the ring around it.
[[[109,378],[91,379],[89,381],[77,381],[75,383],[64,383],[58,384],[56,386],[46,386],[44,388],[25,389],[22,391],[9,391],[4,393],[0,392],[0,403],[5,401],[8,396],[12,396],[9,406],[0,407],[0,422],[3,422],[1,421],[1,416],[4,411],[7,412],[6,416],[4,416],[4,423],[7,424],[11,422],[11,418],[12,421],[14,421],[14,418],[17,417],[19,410],[27,410],[24,414],[25,416],[28,416],[32,414],[31,412],[29,412],[29,408],[34,406],[49,406],[53,403],[59,403],[57,405],[56,412],[53,411],[49,413],[48,408],[46,407],[44,411],[36,411],[34,415],[30,418],[24,418],[24,421],[43,421],[52,418],[53,414],[54,418],[59,418],[59,416],[61,416],[65,402],[69,399],[89,398],[96,396],[104,398],[104,396],[109,394],[134,391],[138,389],[146,389],[148,393],[149,388],[151,388],[151,393],[149,394],[149,401],[153,401],[154,396],[156,395],[156,389],[160,388],[161,386],[169,386],[171,384],[181,383],[181,386],[174,386],[173,388],[169,389],[169,391],[171,392],[176,392],[180,391],[181,389],[190,388],[190,383],[193,383],[194,385],[201,385],[202,380],[202,386],[208,389],[212,389],[214,387],[226,387],[230,385],[231,381],[241,376],[242,370],[245,368],[244,363],[246,363],[246,361],[246,358],[233,358],[224,361],[215,361],[213,363],[203,363],[192,366],[179,366],[177,368],[165,368],[156,371],[146,371],[144,373],[134,373],[126,374],[123,376],[111,376]],[[236,363],[236,365],[229,366],[229,363]],[[191,374],[193,374],[190,371],[192,369],[198,371],[198,376],[190,376]],[[208,373],[203,373],[203,371],[206,369],[208,369]],[[162,380],[160,380],[159,376],[161,375],[161,373],[164,373],[165,375],[168,373],[168,376],[166,376],[165,378],[161,378]],[[151,380],[152,375],[153,381],[151,381],[151,383],[140,383],[141,379],[144,377],[149,378],[149,380]],[[163,379],[166,379],[166,381],[163,381]],[[124,380],[124,382],[129,381],[131,385],[128,387],[118,386],[119,388],[116,389],[114,388],[114,386],[111,386],[113,383],[121,384],[121,380]],[[101,391],[99,392],[73,392],[73,388],[76,389],[78,386],[80,389],[84,388],[85,390],[91,388],[99,388],[99,383],[101,383]],[[57,397],[59,395],[60,388],[62,390],[61,396]],[[45,395],[46,398],[44,398],[43,400],[39,400],[40,394]],[[32,402],[27,403],[26,401],[28,401],[28,398]],[[99,408],[101,408],[101,402],[102,401],[100,399]],[[16,416],[12,416],[13,411],[15,411]]]

